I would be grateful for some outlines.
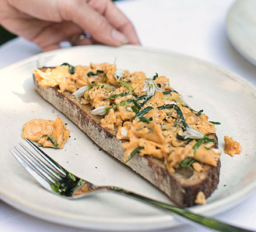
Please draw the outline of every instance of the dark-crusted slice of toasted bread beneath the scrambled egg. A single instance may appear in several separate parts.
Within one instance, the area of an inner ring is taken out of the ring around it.
[[[45,68],[41,69],[42,71]],[[125,141],[116,139],[115,132],[108,131],[100,125],[101,116],[91,114],[93,107],[82,105],[71,93],[61,92],[58,87],[44,88],[38,84],[34,77],[35,89],[47,102],[66,115],[99,147],[123,162]],[[215,139],[215,148],[218,148],[218,139],[215,134],[208,135]],[[217,166],[202,164],[202,172],[195,172],[193,168],[182,168],[175,173],[170,173],[163,162],[149,155],[134,157],[126,163],[133,171],[143,176],[146,180],[162,190],[170,200],[181,207],[192,206],[198,192],[202,191],[209,197],[219,183],[220,161]]]

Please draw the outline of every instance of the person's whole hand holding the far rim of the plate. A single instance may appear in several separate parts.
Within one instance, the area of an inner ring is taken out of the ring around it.
[[[0,23],[43,51],[87,31],[79,45],[140,44],[134,27],[111,0],[1,0]]]

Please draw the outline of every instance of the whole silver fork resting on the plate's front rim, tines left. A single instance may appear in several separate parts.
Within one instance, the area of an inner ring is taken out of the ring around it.
[[[178,219],[188,219],[187,221],[201,224],[205,227],[217,231],[225,232],[253,232],[251,230],[241,229],[218,220],[207,218],[195,213],[190,212],[187,209],[182,209],[177,206],[165,204],[163,202],[155,201],[150,198],[138,195],[129,190],[121,189],[115,186],[96,186],[87,180],[81,179],[72,173],[68,172],[61,165],[57,164],[51,157],[44,153],[39,147],[32,143],[29,139],[26,139],[27,143],[38,153],[35,155],[29,148],[24,144],[19,143],[20,146],[27,152],[20,150],[19,147],[15,146],[15,150],[10,149],[10,152],[15,156],[17,161],[22,164],[24,168],[41,184],[42,187],[54,193],[61,195],[62,197],[69,199],[77,199],[86,197],[87,195],[97,193],[99,191],[111,191],[112,193],[118,193],[126,197],[130,197],[151,206],[154,206],[163,211],[174,213],[178,216]],[[38,158],[40,157],[40,158]]]

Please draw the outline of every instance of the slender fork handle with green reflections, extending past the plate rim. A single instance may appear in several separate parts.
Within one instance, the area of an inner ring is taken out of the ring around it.
[[[155,201],[147,197],[143,197],[142,195],[138,195],[136,193],[133,193],[131,191],[127,191],[124,189],[120,189],[119,187],[109,187],[109,190],[112,190],[115,193],[125,195],[126,197],[135,198],[141,202],[144,202],[146,204],[155,206],[158,209],[162,209],[163,211],[172,212],[176,215],[181,216],[182,218],[189,219],[190,221],[193,221],[197,224],[201,224],[205,227],[217,230],[217,231],[223,231],[223,232],[253,232],[251,230],[241,229],[236,226],[232,226],[230,224],[226,224],[223,222],[220,222],[218,220],[208,218],[205,216],[198,215],[196,213],[192,213],[188,211],[187,209],[182,209],[177,206],[165,204],[163,202]]]

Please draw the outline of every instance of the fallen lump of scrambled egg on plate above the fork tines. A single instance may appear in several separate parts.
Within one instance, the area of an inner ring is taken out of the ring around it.
[[[69,138],[70,131],[66,129],[64,121],[56,117],[56,120],[31,119],[23,126],[23,139],[27,138],[43,147],[63,148]]]

